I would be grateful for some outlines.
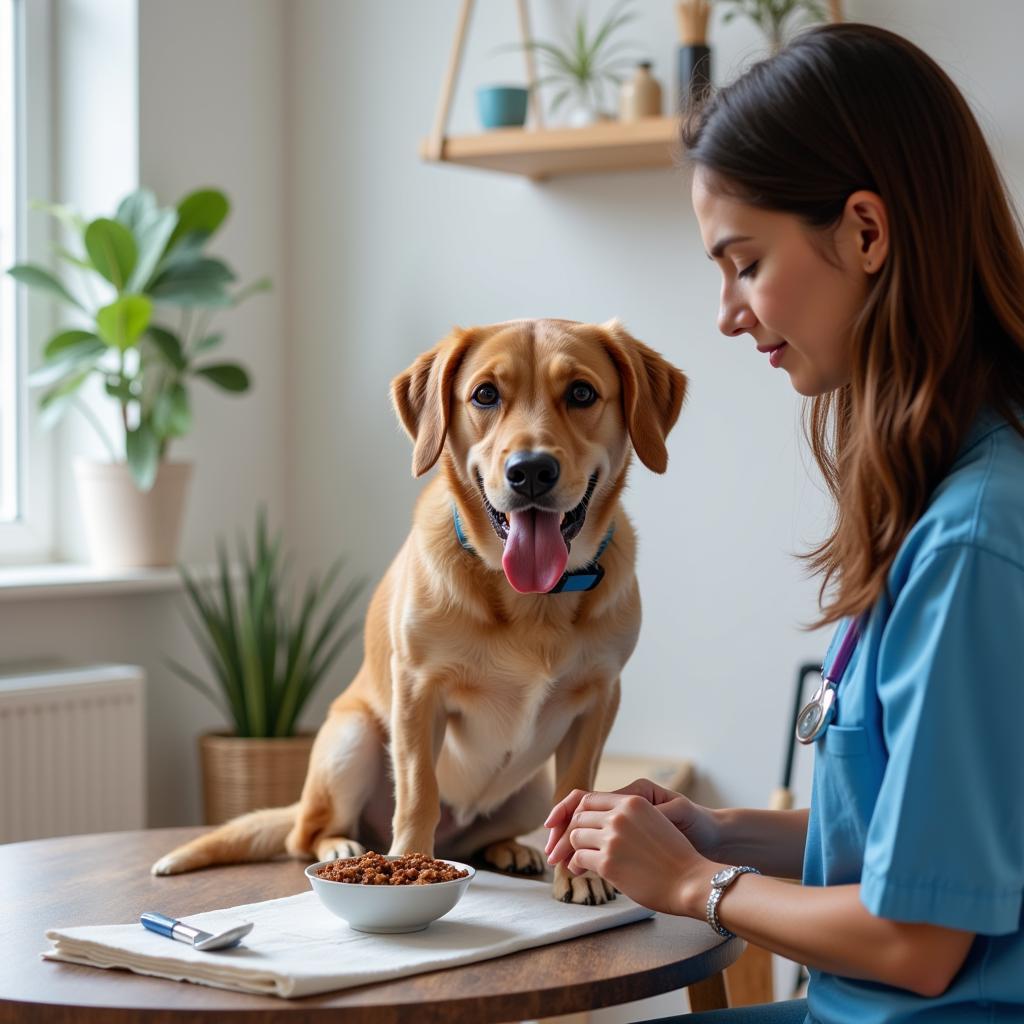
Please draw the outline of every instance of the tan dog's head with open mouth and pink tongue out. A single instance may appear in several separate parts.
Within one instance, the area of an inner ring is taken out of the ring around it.
[[[665,439],[685,392],[683,374],[617,321],[456,328],[391,384],[415,443],[414,475],[446,453],[521,593],[559,581],[588,510],[617,494],[631,442],[645,466],[665,472]]]

